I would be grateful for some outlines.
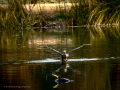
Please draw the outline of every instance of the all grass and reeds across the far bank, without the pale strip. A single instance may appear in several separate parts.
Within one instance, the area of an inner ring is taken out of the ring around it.
[[[46,0],[41,0],[45,2]],[[0,5],[0,29],[15,29],[26,27],[44,27],[49,21],[59,19],[65,22],[65,26],[79,26],[86,24],[109,25],[119,24],[120,4],[118,0],[56,0],[59,4],[64,1],[64,7],[59,6],[53,15],[40,10],[38,13],[29,11],[26,5],[41,3],[39,0],[5,0],[7,5]],[[71,2],[71,8],[67,8],[65,1]],[[106,2],[105,2],[106,1]],[[91,12],[92,11],[92,12]]]

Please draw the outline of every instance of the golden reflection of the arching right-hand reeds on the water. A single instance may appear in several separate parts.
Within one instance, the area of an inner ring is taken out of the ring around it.
[[[119,27],[92,27],[89,28],[91,39],[99,38],[119,38],[120,28]]]

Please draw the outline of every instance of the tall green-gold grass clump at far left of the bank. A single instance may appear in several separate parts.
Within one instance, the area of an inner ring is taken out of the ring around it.
[[[18,29],[33,23],[31,15],[24,8],[22,0],[6,0],[7,5],[0,9],[0,29]],[[5,9],[6,8],[6,9]]]

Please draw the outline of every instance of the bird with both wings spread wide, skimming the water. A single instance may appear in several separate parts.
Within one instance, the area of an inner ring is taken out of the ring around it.
[[[53,51],[55,51],[55,52],[57,52],[58,54],[60,54],[61,57],[62,57],[62,63],[63,63],[64,61],[67,61],[70,53],[72,53],[73,51],[75,51],[75,50],[77,50],[77,49],[79,49],[79,48],[82,48],[82,47],[85,46],[85,45],[91,45],[91,44],[83,44],[82,46],[77,47],[77,48],[71,50],[71,51],[68,52],[68,53],[66,53],[66,50],[64,50],[63,53],[61,53],[61,52],[59,52],[59,51],[57,51],[57,50],[55,50],[55,49],[53,49],[53,48],[51,48],[51,47],[48,47],[47,44],[46,44],[46,47],[49,48],[49,49],[51,49],[51,50],[53,50]]]

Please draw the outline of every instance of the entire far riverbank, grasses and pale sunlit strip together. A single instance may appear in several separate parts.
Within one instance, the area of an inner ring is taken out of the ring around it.
[[[116,6],[109,9],[113,5]],[[117,2],[23,4],[15,0],[0,5],[0,29],[119,26],[119,6]]]

